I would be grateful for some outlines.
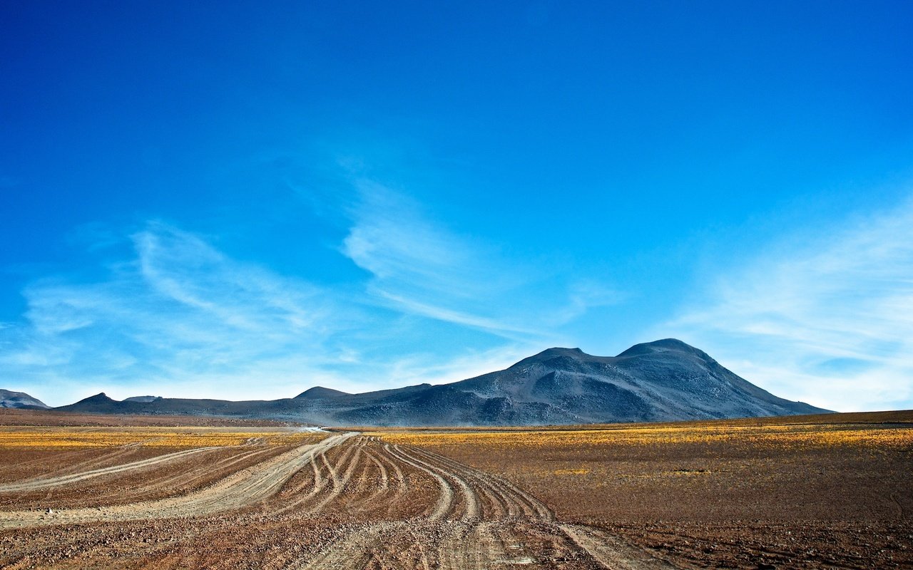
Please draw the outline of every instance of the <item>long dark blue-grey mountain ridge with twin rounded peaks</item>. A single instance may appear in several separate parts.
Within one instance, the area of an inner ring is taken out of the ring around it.
[[[828,411],[777,398],[674,338],[617,357],[549,348],[505,370],[452,384],[363,394],[314,387],[258,401],[104,394],[58,408],[96,413],[208,414],[324,425],[534,425],[785,416]]]

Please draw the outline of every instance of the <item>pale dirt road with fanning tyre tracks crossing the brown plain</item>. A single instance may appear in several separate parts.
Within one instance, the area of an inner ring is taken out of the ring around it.
[[[0,495],[66,492],[175,456],[205,457],[204,449],[181,453],[6,484]],[[598,529],[557,521],[548,505],[497,476],[352,432],[155,501],[0,512],[0,529],[0,562],[16,568],[247,567],[251,556],[277,570],[673,567]],[[200,557],[233,541],[245,544],[235,559]]]

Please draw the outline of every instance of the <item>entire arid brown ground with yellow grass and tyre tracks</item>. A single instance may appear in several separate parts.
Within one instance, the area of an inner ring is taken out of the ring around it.
[[[0,411],[5,568],[913,567],[913,412],[507,429]]]

